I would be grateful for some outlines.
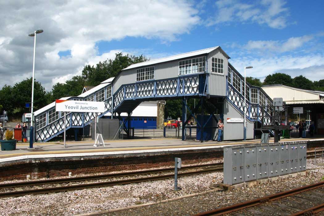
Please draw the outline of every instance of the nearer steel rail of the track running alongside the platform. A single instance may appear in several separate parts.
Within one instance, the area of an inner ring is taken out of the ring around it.
[[[200,170],[200,171],[178,173],[178,177],[192,176],[192,175],[202,174],[202,173],[206,173],[206,172],[220,171],[220,170],[223,170],[223,167]],[[0,198],[1,197],[19,197],[19,196],[24,196],[24,195],[29,195],[29,194],[46,194],[46,193],[53,193],[53,192],[64,192],[64,191],[69,191],[69,190],[79,190],[79,189],[85,189],[85,188],[99,188],[99,187],[107,187],[107,186],[115,186],[115,185],[126,185],[126,184],[131,184],[131,183],[163,180],[163,179],[168,179],[168,178],[173,178],[173,177],[174,177],[174,174],[168,174],[168,175],[163,175],[163,176],[150,176],[150,177],[124,179],[124,180],[116,180],[116,181],[105,181],[105,182],[97,182],[97,183],[70,185],[70,186],[63,186],[63,187],[11,191],[11,192],[0,193]]]

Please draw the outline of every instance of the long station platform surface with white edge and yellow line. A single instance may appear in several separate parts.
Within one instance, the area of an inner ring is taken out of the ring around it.
[[[281,139],[280,142],[290,141],[324,141],[324,137]],[[85,142],[44,142],[34,143],[34,148],[29,149],[29,143],[17,143],[14,151],[0,151],[0,163],[21,159],[75,157],[92,155],[111,155],[125,153],[165,152],[192,149],[223,148],[226,145],[241,145],[260,143],[260,139],[247,141],[182,141],[176,138],[161,139],[135,139],[135,140],[110,140],[104,141],[105,146],[94,146],[94,141]],[[269,142],[273,142],[270,138]]]

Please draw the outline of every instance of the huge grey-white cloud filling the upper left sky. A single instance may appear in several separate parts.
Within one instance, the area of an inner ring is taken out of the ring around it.
[[[31,77],[34,41],[28,34],[43,28],[37,36],[35,78],[47,90],[78,74],[86,63],[113,58],[111,52],[98,56],[98,41],[144,37],[169,42],[200,22],[191,3],[175,0],[2,1],[0,13],[0,76],[8,85]],[[58,52],[66,50],[71,57],[60,58]]]

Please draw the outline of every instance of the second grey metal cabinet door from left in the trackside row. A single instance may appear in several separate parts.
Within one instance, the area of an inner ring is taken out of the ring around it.
[[[245,147],[244,148],[244,174],[245,181],[252,181],[257,179],[257,155],[256,147]]]

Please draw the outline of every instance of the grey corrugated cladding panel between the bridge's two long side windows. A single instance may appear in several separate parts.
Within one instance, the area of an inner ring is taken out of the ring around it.
[[[179,61],[159,63],[154,68],[155,80],[176,78],[179,75]]]

